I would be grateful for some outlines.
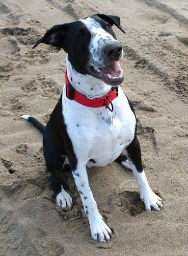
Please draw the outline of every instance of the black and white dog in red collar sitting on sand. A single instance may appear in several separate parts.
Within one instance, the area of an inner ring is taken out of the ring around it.
[[[146,210],[159,210],[162,199],[151,190],[142,166],[137,122],[132,106],[119,87],[124,80],[123,50],[112,26],[122,32],[118,16],[95,14],[52,27],[36,42],[63,48],[67,70],[63,94],[46,126],[24,115],[43,133],[43,150],[57,204],[72,206],[62,172],[69,164],[88,216],[92,239],[109,241],[112,230],[99,214],[87,167],[113,161],[130,168],[137,179]],[[124,32],[125,33],[125,32]],[[126,156],[121,155],[126,149]]]

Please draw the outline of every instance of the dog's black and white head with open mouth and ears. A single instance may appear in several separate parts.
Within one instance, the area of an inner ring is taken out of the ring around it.
[[[115,86],[122,83],[124,77],[120,67],[123,50],[113,25],[125,33],[118,16],[94,14],[76,22],[53,26],[33,48],[40,42],[63,48],[77,72]]]

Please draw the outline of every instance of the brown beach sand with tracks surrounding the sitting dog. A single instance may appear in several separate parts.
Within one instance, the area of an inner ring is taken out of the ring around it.
[[[188,255],[187,0],[2,0],[0,2],[0,254]],[[42,136],[21,119],[46,123],[64,83],[63,50],[32,46],[45,31],[94,13],[119,15],[122,88],[135,107],[143,164],[164,209],[145,212],[132,173],[117,163],[88,170],[109,243],[90,237],[71,173],[73,207],[52,198]]]

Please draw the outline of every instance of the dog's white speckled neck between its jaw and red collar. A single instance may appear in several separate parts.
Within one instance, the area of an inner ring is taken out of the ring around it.
[[[108,94],[112,87],[90,75],[82,75],[74,70],[67,56],[67,76],[72,87],[83,95],[99,98]]]

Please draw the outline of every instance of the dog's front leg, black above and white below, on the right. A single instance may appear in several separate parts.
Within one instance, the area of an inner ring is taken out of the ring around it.
[[[150,188],[141,159],[141,149],[140,143],[137,137],[126,148],[127,157],[129,160],[130,167],[133,174],[137,179],[137,185],[140,190],[140,198],[145,203],[145,208],[147,211],[151,210],[153,207],[155,210],[160,210],[159,207],[163,207],[163,204],[160,202],[162,198],[158,197]]]

